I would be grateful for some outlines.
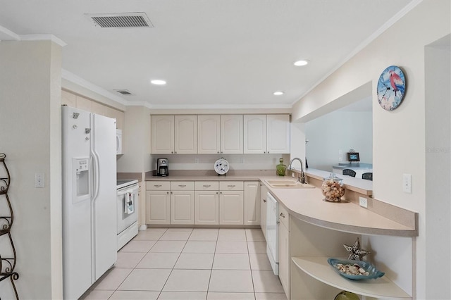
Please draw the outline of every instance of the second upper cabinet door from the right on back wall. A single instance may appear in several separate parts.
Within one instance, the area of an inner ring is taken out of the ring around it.
[[[244,115],[244,153],[266,153],[266,115]]]

